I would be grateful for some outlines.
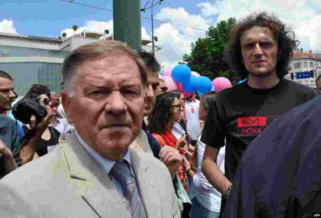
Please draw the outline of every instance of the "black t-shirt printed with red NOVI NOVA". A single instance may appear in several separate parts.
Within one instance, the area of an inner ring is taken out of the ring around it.
[[[247,146],[279,116],[316,96],[299,83],[281,79],[271,89],[253,89],[247,82],[222,90],[208,112],[201,141],[225,148],[225,176],[233,181]]]

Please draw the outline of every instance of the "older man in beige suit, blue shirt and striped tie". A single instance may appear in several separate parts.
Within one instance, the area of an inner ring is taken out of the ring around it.
[[[104,40],[72,51],[62,74],[62,102],[76,130],[0,181],[1,217],[180,217],[169,170],[129,148],[143,119],[143,61],[125,44]],[[118,165],[134,178],[131,199]]]

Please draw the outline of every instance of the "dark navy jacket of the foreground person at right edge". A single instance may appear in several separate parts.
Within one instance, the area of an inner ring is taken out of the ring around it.
[[[224,217],[313,217],[321,212],[320,114],[318,96],[253,140],[239,164]]]

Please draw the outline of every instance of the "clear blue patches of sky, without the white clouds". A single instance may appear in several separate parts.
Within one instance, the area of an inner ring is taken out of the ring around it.
[[[109,10],[113,9],[112,0],[75,0],[74,2]],[[142,0],[141,6],[143,7],[146,2],[147,0]],[[161,8],[165,7],[184,7],[187,12],[197,15],[201,13],[201,8],[195,7],[195,4],[202,2],[204,1],[164,0],[162,4],[158,4],[153,8],[154,16],[160,12]],[[81,27],[87,20],[109,21],[113,19],[112,12],[60,0],[3,0],[0,12],[0,20],[13,20],[14,27],[19,34],[44,37],[57,36],[62,29],[70,28],[72,25]],[[142,12],[142,16],[150,18],[151,10]],[[160,22],[155,21],[154,27],[157,28],[160,24]],[[151,20],[142,19],[142,26],[145,27],[146,31],[150,32]]]

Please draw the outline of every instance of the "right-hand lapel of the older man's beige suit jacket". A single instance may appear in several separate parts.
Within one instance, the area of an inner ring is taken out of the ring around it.
[[[159,193],[153,175],[155,172],[151,172],[148,169],[146,161],[141,159],[139,152],[134,149],[130,149],[130,161],[142,196],[147,218],[162,217]]]

